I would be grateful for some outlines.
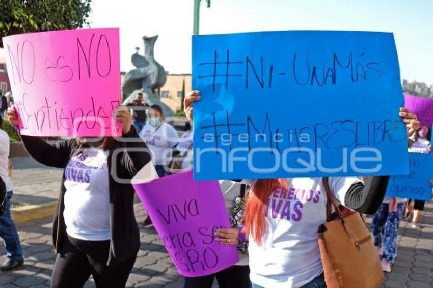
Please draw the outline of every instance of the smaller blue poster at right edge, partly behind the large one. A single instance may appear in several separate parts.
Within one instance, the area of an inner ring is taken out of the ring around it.
[[[430,180],[433,179],[433,153],[408,153],[409,174],[391,176],[387,197],[431,200]]]

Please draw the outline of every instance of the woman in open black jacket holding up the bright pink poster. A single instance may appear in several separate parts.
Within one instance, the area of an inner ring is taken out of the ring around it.
[[[8,110],[18,125],[17,110]],[[150,155],[126,108],[116,111],[119,138],[55,142],[21,135],[38,162],[64,169],[53,223],[57,252],[51,287],[82,287],[92,275],[97,287],[124,287],[140,248],[132,177]]]

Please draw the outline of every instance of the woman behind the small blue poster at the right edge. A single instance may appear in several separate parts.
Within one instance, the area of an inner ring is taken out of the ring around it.
[[[409,152],[414,153],[430,153],[431,152],[431,131],[430,127],[422,126],[418,133],[415,135],[415,141],[409,148]],[[412,203],[415,202],[413,205]],[[412,210],[414,211],[414,217],[412,219],[412,228],[419,227],[419,218],[421,211],[424,210],[425,201],[423,200],[411,200],[409,199],[406,205],[406,211],[404,212],[404,218],[409,218]]]

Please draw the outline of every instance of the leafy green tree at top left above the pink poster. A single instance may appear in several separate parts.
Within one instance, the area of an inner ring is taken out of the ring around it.
[[[88,26],[92,0],[1,0],[2,37],[29,32]]]

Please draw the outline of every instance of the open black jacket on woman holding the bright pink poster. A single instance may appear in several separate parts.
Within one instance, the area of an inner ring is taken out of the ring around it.
[[[46,142],[40,137],[21,136],[25,148],[36,161],[55,168],[65,168],[71,157],[76,155],[83,146],[75,139],[68,141]],[[150,161],[146,144],[140,139],[136,130],[131,127],[126,141],[115,141],[107,158],[110,187],[110,225],[111,245],[107,264],[116,265],[126,258],[135,256],[140,248],[140,233],[137,225],[133,202],[134,190],[130,179]],[[134,139],[133,139],[134,138]],[[129,141],[128,141],[129,140]],[[132,141],[131,141],[132,140]],[[129,151],[128,151],[129,150]],[[113,159],[116,157],[116,159]],[[113,175],[126,179],[128,183],[117,182]],[[63,218],[65,209],[65,175],[63,175],[60,196],[54,215],[53,245],[57,252],[61,251],[63,239],[66,236],[66,226]]]

